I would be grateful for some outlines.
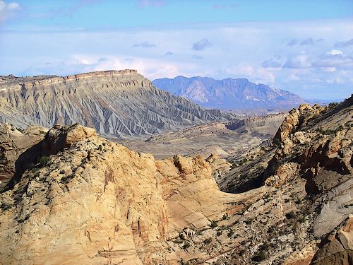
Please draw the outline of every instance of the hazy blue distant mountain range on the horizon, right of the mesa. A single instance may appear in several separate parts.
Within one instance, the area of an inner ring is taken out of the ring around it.
[[[202,107],[222,110],[286,110],[305,100],[289,91],[252,83],[245,78],[215,80],[209,77],[177,76],[152,83],[162,90],[198,103]]]

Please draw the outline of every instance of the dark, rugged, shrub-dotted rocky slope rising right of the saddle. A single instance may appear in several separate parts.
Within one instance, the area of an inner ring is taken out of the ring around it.
[[[273,143],[231,161],[234,168],[218,181],[222,190],[273,189],[248,204],[247,220],[239,215],[232,227],[238,237],[247,237],[246,248],[220,261],[352,263],[352,128],[353,97],[325,107],[301,105],[289,112]],[[250,223],[250,235],[241,220]]]

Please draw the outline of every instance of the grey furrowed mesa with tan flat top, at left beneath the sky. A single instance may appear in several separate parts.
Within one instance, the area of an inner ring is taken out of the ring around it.
[[[234,119],[159,90],[135,70],[75,76],[0,76],[0,122],[83,124],[104,136],[140,136]]]

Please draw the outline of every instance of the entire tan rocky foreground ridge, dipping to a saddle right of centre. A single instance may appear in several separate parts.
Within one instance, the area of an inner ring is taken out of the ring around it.
[[[20,155],[35,150],[34,163],[0,194],[0,259],[349,264],[352,102],[292,110],[273,143],[217,179],[229,192],[256,179],[238,194],[218,189],[213,170],[226,163],[217,156],[156,160],[93,129],[56,126]]]

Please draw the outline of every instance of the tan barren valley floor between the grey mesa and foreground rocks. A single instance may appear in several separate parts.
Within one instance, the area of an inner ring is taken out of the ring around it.
[[[280,113],[234,122],[212,122],[150,136],[145,140],[126,139],[119,143],[135,151],[152,153],[156,158],[169,158],[174,154],[208,157],[211,153],[227,158],[272,138],[285,116],[285,113]]]

